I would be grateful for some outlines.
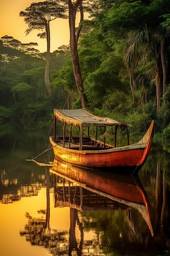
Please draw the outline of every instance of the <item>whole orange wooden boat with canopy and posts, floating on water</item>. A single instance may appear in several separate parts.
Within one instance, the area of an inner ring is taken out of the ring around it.
[[[57,120],[63,124],[62,136],[57,133]],[[72,126],[79,128],[78,136],[73,136]],[[115,126],[114,146],[106,144],[106,127],[112,128],[113,126]],[[129,126],[113,119],[94,116],[85,108],[78,110],[54,109],[54,135],[49,139],[56,159],[85,168],[136,175],[150,152],[154,121],[152,121],[144,137],[132,145],[129,145]],[[127,131],[127,146],[116,147],[118,127]],[[90,135],[94,128],[95,136]],[[97,137],[97,129],[99,128],[103,128],[103,141]],[[68,136],[66,136],[66,131]],[[85,135],[84,132],[86,132]]]

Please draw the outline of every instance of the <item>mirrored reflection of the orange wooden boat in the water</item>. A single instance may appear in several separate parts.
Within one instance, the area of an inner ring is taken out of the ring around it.
[[[81,186],[83,189],[93,192],[93,197],[91,197],[93,199],[92,203],[90,203],[90,194],[83,190],[78,192],[79,200],[77,200],[75,197],[71,198],[71,195],[75,195],[75,192],[69,190],[67,186],[68,183],[67,185],[63,184],[63,186],[60,184],[59,188],[62,188],[62,191],[64,188],[66,190],[63,191],[63,200],[62,197],[60,197],[60,200],[55,200],[56,207],[67,206],[82,211],[89,210],[90,208],[93,211],[95,208],[101,210],[102,208],[104,209],[104,207],[105,209],[108,207],[108,209],[113,210],[137,209],[146,221],[153,236],[152,223],[150,220],[150,202],[139,176],[134,177],[133,175],[120,175],[117,173],[80,168],[60,162],[56,159],[54,159],[50,172],[64,178],[64,180],[66,179],[72,182],[72,186],[74,187],[76,185]],[[80,190],[75,189],[75,191]],[[68,200],[66,200],[66,193],[68,194]],[[95,204],[97,194],[103,196],[106,200],[104,201],[102,198],[99,198]],[[110,200],[114,202],[111,203]],[[102,204],[100,202],[104,202],[104,207],[101,207]]]

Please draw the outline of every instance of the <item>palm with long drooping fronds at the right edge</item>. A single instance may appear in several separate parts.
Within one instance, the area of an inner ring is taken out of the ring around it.
[[[170,35],[168,28],[149,27],[145,23],[141,29],[136,28],[126,33],[126,43],[124,45],[124,62],[130,76],[135,76],[135,70],[139,59],[144,54],[152,53],[155,60],[155,81],[156,81],[156,96],[157,109],[160,108],[160,101],[163,94],[166,92],[167,70],[165,64],[165,48],[166,41]],[[134,80],[134,79],[133,79]],[[130,83],[132,94],[134,92],[134,82]]]

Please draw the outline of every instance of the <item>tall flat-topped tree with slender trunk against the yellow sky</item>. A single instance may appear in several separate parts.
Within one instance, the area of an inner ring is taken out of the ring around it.
[[[44,76],[44,82],[46,89],[51,94],[50,79],[49,79],[49,65],[50,65],[50,21],[56,18],[67,18],[65,11],[66,7],[59,3],[60,1],[44,1],[32,3],[30,7],[27,7],[25,11],[20,12],[20,16],[24,17],[24,21],[28,24],[29,28],[26,29],[26,35],[28,35],[34,29],[44,30],[45,34],[38,34],[44,38],[46,36],[47,52],[46,52],[46,70]]]

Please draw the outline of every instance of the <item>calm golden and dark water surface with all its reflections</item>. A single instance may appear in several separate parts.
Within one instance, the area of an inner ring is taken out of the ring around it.
[[[52,150],[53,166],[26,161],[48,132],[0,124],[0,255],[170,255],[170,146],[153,144],[139,177],[120,177],[53,163]]]

